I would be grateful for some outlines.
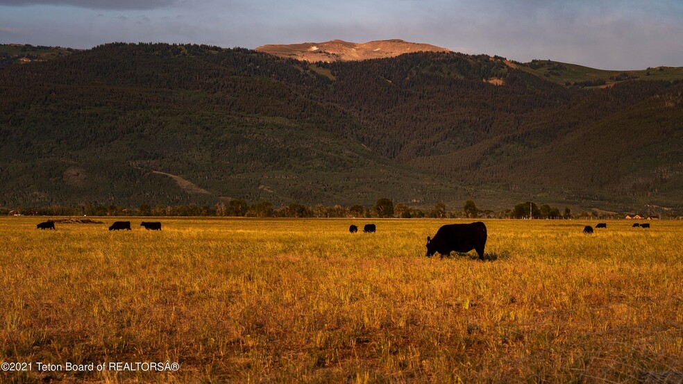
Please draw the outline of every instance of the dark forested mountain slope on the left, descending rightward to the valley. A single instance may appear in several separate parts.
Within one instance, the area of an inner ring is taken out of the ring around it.
[[[117,49],[144,51],[101,47],[3,73],[5,204],[237,197],[370,204],[377,196],[422,201],[457,191],[330,132],[355,122],[307,97],[306,86],[327,78],[292,63],[252,51],[194,47],[189,53],[164,44],[130,60],[112,53]],[[286,81],[270,78],[271,71]],[[209,193],[183,190],[159,172]]]

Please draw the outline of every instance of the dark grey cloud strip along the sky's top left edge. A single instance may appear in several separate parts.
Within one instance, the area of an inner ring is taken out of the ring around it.
[[[177,0],[0,0],[0,6],[74,6],[98,10],[151,10]]]

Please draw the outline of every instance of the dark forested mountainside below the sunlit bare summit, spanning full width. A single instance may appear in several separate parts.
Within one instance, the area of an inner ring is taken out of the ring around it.
[[[118,43],[1,66],[0,204],[683,210],[683,76],[589,87],[544,68]]]

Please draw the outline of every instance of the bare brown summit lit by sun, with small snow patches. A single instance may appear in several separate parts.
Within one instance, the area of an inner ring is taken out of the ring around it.
[[[405,42],[398,39],[376,40],[364,43],[332,40],[329,42],[304,42],[301,44],[267,44],[258,47],[256,50],[282,58],[294,58],[310,62],[392,58],[403,53],[419,51],[450,51],[435,45]]]

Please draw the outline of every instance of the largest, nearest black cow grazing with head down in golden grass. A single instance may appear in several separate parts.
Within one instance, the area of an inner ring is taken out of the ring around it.
[[[477,251],[480,260],[484,260],[486,246],[486,226],[482,222],[470,224],[446,224],[441,226],[434,238],[427,236],[427,257],[439,252],[441,258],[450,252]]]

